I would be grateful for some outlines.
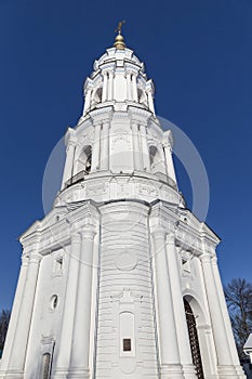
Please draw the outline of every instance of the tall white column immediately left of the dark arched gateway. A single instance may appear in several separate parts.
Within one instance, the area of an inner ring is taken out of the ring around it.
[[[196,370],[193,364],[189,335],[183,302],[181,273],[177,266],[176,249],[174,236],[172,234],[167,237],[167,260],[170,287],[172,292],[172,301],[175,316],[175,327],[178,342],[181,363],[186,379],[196,379]]]

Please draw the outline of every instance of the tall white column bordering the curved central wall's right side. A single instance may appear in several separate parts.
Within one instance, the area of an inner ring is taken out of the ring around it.
[[[165,254],[165,231],[158,226],[152,232],[156,266],[156,288],[159,326],[161,379],[183,379],[171,287]]]

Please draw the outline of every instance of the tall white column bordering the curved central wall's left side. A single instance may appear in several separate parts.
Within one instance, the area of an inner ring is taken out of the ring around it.
[[[81,260],[72,332],[70,369],[68,378],[90,378],[90,325],[92,301],[92,272],[94,251],[94,225],[84,226],[82,232]]]

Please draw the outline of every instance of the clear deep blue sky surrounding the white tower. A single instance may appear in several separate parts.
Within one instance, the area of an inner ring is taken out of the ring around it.
[[[121,18],[155,81],[157,114],[184,130],[204,161],[223,280],[252,282],[251,0],[0,0],[0,309],[12,304],[17,237],[43,217],[49,155],[76,125],[83,81]],[[181,191],[190,197],[183,175]]]

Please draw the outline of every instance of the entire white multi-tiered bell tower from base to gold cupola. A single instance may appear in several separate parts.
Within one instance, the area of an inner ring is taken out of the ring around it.
[[[0,378],[244,378],[220,239],[185,208],[172,132],[122,36],[95,61],[84,95],[62,191],[21,237]]]

